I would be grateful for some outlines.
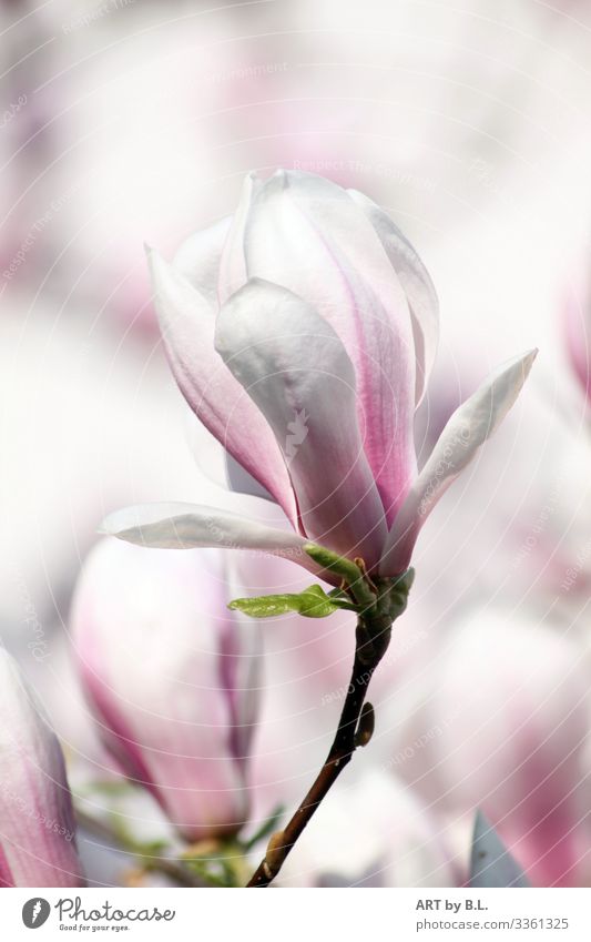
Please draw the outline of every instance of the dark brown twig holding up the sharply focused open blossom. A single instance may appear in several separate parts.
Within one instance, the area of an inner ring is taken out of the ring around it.
[[[288,824],[272,835],[265,858],[247,887],[268,887],[277,877],[287,854],[343,769],[350,762],[356,748],[369,742],[374,731],[374,710],[369,703],[364,708],[364,701],[371,676],[388,647],[390,634],[389,616],[378,616],[371,620],[367,615],[359,618],[350,682],[326,761]]]

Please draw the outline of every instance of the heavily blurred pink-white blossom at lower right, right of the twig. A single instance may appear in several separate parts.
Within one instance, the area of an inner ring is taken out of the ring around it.
[[[584,883],[588,689],[582,647],[478,611],[420,667],[393,769],[469,828],[480,808],[534,885]]]

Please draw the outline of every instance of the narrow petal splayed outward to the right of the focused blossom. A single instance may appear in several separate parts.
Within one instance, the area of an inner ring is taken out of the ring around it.
[[[403,573],[410,563],[417,536],[428,515],[516,402],[538,351],[500,366],[456,409],[410,488],[388,534],[380,563],[383,575]]]

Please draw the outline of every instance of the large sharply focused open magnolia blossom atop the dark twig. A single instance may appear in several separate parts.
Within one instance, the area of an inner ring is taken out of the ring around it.
[[[418,473],[412,425],[435,358],[437,301],[379,206],[307,173],[248,176],[232,219],[191,236],[172,265],[150,259],[181,391],[294,533],[182,504],[116,513],[106,531],[157,547],[258,548],[317,573],[304,551],[314,540],[379,575],[403,573],[536,352],[506,363],[454,413]]]

